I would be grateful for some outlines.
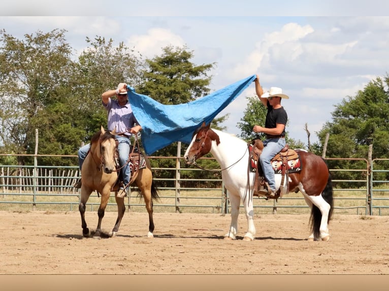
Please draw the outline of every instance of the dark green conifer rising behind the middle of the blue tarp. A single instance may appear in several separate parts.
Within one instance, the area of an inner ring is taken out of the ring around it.
[[[187,47],[163,48],[160,56],[153,59],[146,59],[147,67],[143,72],[143,82],[136,88],[137,93],[148,95],[154,100],[163,104],[181,104],[196,100],[210,92],[208,88],[211,82],[211,76],[208,72],[215,66],[215,63],[195,65],[190,59],[193,57],[193,51]],[[218,120],[223,120],[221,117]],[[214,120],[216,122],[217,120]],[[186,144],[182,144],[181,153],[185,152]],[[176,156],[177,142],[157,151],[155,156]],[[174,167],[171,160],[153,160],[154,167]],[[217,165],[217,164],[216,164]],[[171,173],[170,173],[171,174]],[[187,175],[195,175],[188,173]],[[196,176],[206,175],[207,172],[197,173]],[[169,173],[163,170],[157,170],[156,175],[162,178],[170,178]],[[174,187],[174,185],[165,186]]]

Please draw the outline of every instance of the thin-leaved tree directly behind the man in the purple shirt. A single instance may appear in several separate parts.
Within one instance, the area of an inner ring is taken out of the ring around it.
[[[122,42],[117,46],[110,39],[96,36],[86,38],[89,45],[80,55],[74,75],[73,100],[80,115],[82,130],[79,140],[89,142],[101,125],[107,128],[107,112],[102,106],[101,95],[116,89],[119,83],[137,86],[142,77],[144,61],[140,54]]]

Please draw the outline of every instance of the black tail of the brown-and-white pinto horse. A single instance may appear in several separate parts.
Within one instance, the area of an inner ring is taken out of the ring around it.
[[[326,165],[327,165],[327,163],[326,163]],[[327,168],[328,168],[328,165],[327,165]],[[332,213],[334,210],[334,197],[333,197],[332,178],[331,178],[330,170],[328,173],[327,185],[324,188],[323,192],[321,193],[321,196],[328,204],[330,204],[330,211],[328,212],[328,220],[327,220],[327,223],[330,223],[330,220],[332,218]],[[320,224],[321,224],[320,209],[316,205],[312,205],[311,230],[313,231],[313,235],[315,238],[320,236]]]

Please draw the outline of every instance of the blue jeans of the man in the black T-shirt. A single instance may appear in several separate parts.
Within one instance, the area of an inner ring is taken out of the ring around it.
[[[285,138],[270,138],[264,141],[265,148],[262,150],[260,163],[264,171],[265,179],[272,191],[276,189],[276,181],[273,166],[270,161],[285,147],[285,144]]]

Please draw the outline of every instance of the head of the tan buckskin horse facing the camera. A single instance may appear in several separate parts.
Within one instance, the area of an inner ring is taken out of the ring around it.
[[[115,170],[115,151],[116,151],[115,135],[105,131],[103,126],[91,140],[91,154],[100,162],[98,167],[103,169],[105,173],[110,174]],[[95,163],[97,161],[95,160]]]

